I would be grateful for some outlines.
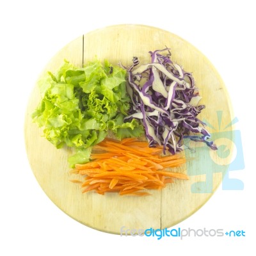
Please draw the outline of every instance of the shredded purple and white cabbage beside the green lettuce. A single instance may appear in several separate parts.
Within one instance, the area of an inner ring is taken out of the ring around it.
[[[137,57],[131,67],[119,63],[128,72],[127,92],[133,104],[125,120],[141,120],[150,147],[163,145],[164,154],[166,150],[180,152],[184,138],[216,150],[213,141],[208,141],[211,134],[205,124],[196,117],[205,106],[198,106],[201,97],[192,74],[170,60],[169,48],[149,53],[151,62],[146,65],[136,67],[140,64]]]

